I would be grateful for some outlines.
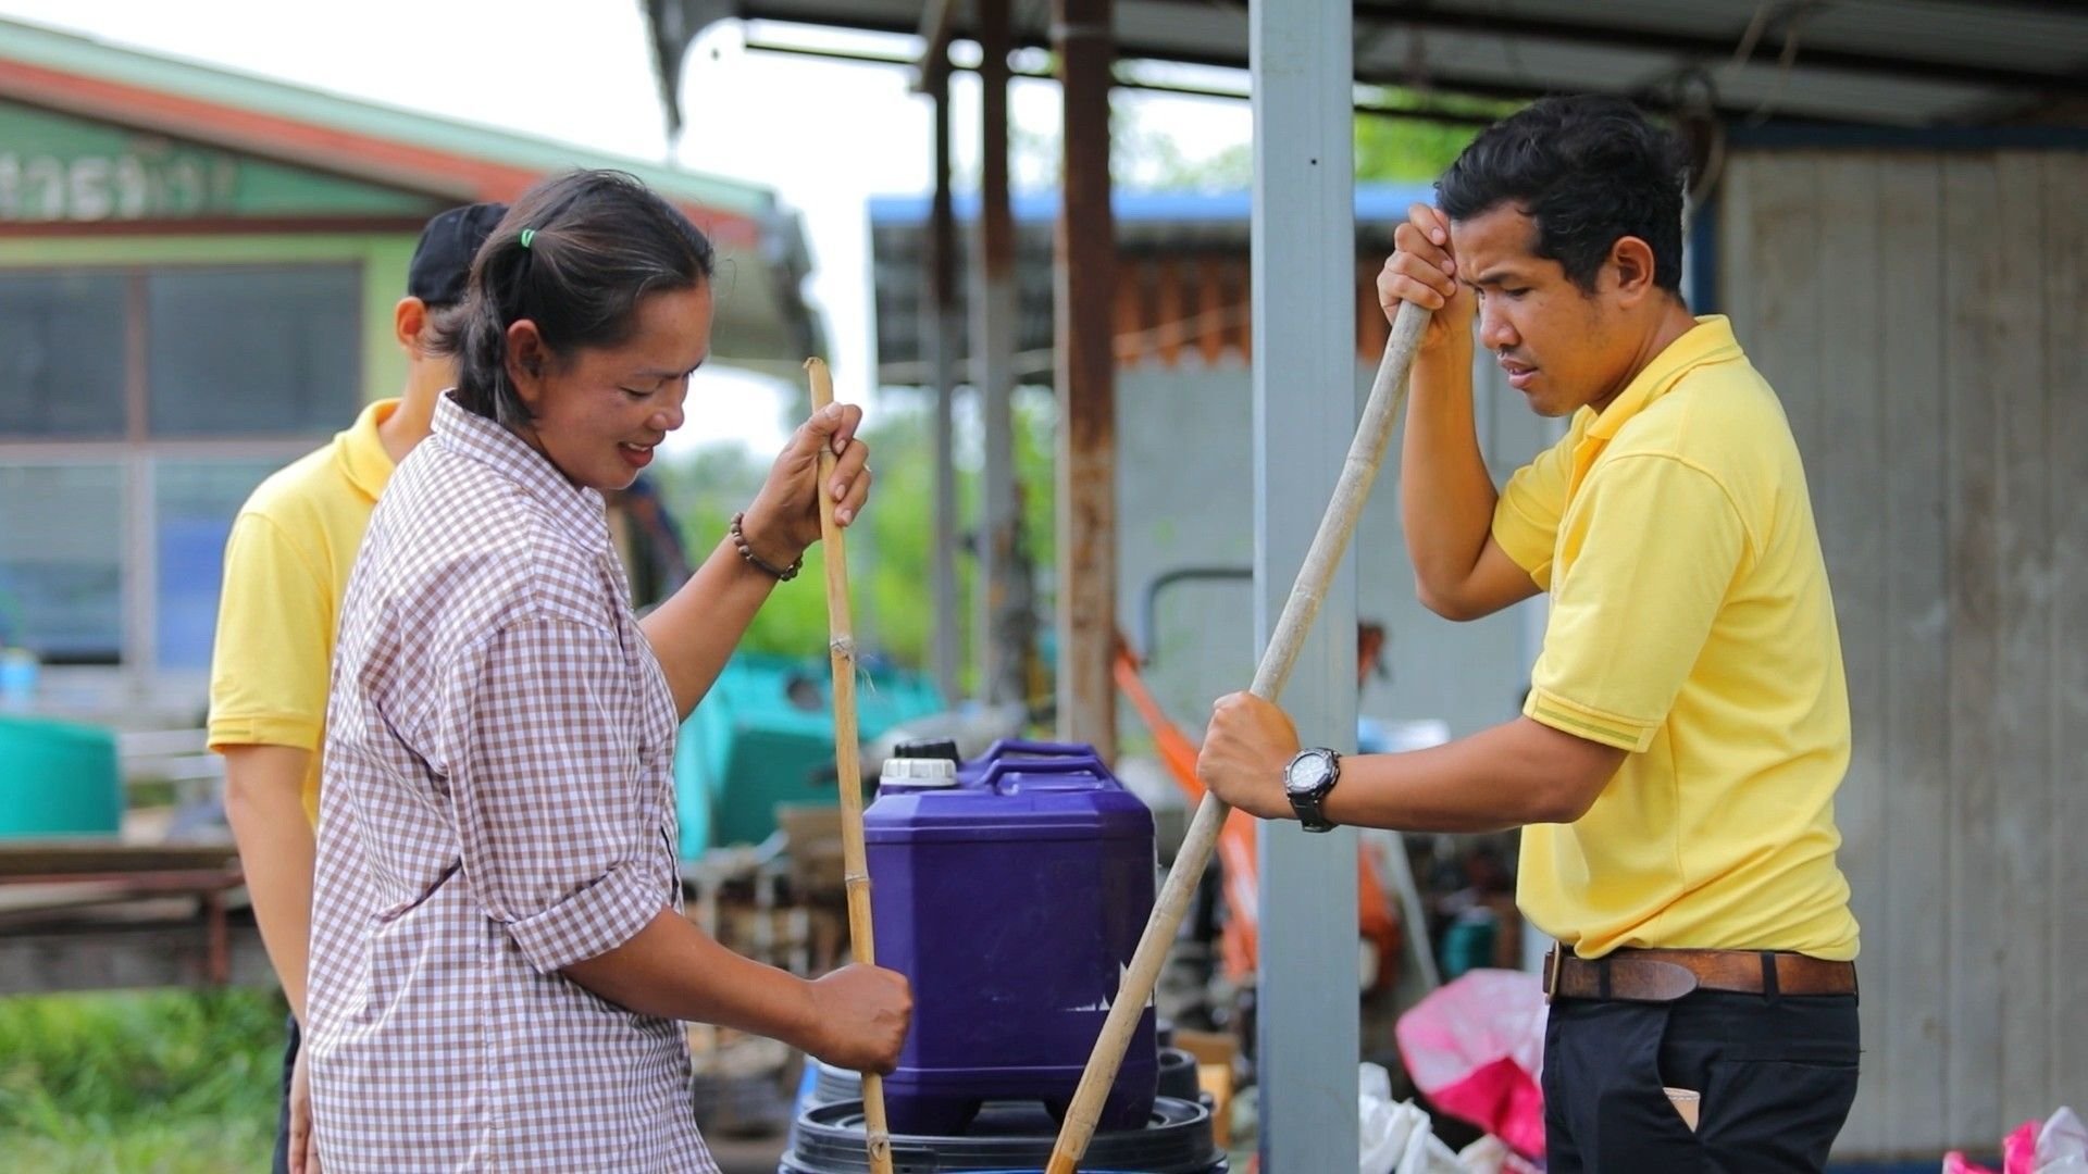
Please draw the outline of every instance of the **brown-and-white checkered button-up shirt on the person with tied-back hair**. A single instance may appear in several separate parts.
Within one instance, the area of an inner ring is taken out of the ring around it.
[[[443,397],[334,658],[305,1040],[328,1174],[716,1174],[681,1026],[560,973],[679,902],[674,727],[601,495]]]

